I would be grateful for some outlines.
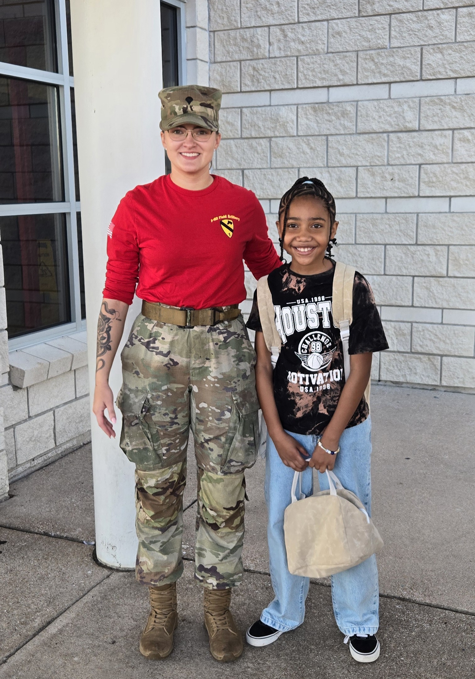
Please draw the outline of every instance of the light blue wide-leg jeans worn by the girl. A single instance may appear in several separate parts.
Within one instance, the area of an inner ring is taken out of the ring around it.
[[[318,437],[287,432],[301,443],[309,456]],[[344,488],[359,497],[371,515],[371,420],[345,429],[340,438],[334,473]],[[264,609],[261,621],[281,631],[302,625],[309,578],[292,575],[287,568],[283,533],[285,507],[291,503],[294,470],[283,464],[270,437],[266,448],[267,540],[270,578],[275,599]],[[318,473],[320,490],[328,490],[326,474]],[[313,493],[313,469],[302,473],[302,493]],[[336,624],[343,634],[375,634],[379,626],[378,569],[374,554],[358,566],[332,575],[332,602]]]

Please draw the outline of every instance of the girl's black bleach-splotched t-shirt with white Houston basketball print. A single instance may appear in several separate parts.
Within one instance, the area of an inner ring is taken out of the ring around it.
[[[296,434],[319,434],[336,409],[345,384],[340,331],[333,325],[334,267],[321,274],[302,276],[288,264],[268,276],[275,308],[275,323],[282,348],[274,370],[274,396],[282,426]],[[261,331],[257,292],[247,321]],[[358,272],[353,283],[353,322],[349,353],[383,351],[386,341],[370,284]],[[369,407],[363,397],[349,427],[364,422]]]

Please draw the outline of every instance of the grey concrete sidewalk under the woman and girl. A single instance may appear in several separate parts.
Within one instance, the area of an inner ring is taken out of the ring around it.
[[[175,650],[160,663],[143,659],[146,590],[132,573],[94,563],[84,544],[94,539],[86,446],[13,483],[14,497],[0,504],[0,679],[472,679],[475,396],[376,386],[372,421],[373,517],[385,540],[382,650],[374,665],[355,663],[342,644],[326,581],[311,585],[298,630],[268,648],[247,646],[236,663],[215,662],[190,561],[179,581]],[[190,460],[185,506],[195,497],[193,469]],[[247,474],[247,573],[233,602],[243,631],[272,598],[263,477],[258,460]],[[193,558],[195,513],[194,504],[185,512],[186,559]]]

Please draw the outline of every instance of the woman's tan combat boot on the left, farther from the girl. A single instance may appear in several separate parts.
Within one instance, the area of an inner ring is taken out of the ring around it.
[[[177,629],[177,583],[149,587],[150,606],[147,624],[140,638],[139,650],[145,658],[162,660],[173,650],[173,632]]]

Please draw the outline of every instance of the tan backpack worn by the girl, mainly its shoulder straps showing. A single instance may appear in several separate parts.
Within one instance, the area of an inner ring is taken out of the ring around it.
[[[352,266],[337,261],[333,276],[333,325],[340,329],[343,345],[343,361],[345,365],[345,380],[348,379],[350,373],[348,342],[350,325],[353,320],[353,280],[355,278],[355,271],[356,270]],[[258,280],[258,307],[264,341],[271,354],[272,367],[275,367],[281,352],[282,339],[275,325],[275,310],[267,282],[267,276],[263,276]],[[364,392],[364,397],[368,406],[370,405],[370,387],[371,379]]]

